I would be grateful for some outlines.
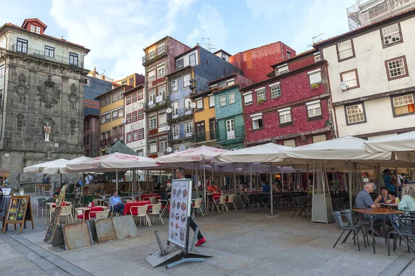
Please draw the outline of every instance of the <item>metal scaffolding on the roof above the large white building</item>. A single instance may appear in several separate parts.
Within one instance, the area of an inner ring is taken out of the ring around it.
[[[415,6],[415,0],[357,0],[347,9],[349,30],[367,26]]]

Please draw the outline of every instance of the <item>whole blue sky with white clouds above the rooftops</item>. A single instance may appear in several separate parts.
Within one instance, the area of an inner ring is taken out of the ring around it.
[[[21,0],[1,4],[0,24],[37,17],[47,35],[91,49],[85,68],[114,80],[144,74],[142,50],[169,35],[193,47],[230,54],[273,42],[297,53],[312,37],[349,30],[346,9],[356,0]],[[24,7],[24,8],[22,8]],[[317,40],[315,39],[315,40]]]

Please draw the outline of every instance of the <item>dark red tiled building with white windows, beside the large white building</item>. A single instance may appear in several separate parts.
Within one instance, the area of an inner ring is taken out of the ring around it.
[[[317,50],[271,66],[268,80],[241,89],[246,146],[297,147],[333,138],[326,61]]]

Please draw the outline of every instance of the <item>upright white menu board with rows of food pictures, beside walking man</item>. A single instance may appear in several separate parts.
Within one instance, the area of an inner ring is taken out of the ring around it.
[[[186,247],[186,237],[189,231],[187,219],[192,210],[192,180],[174,179],[170,198],[169,241]]]

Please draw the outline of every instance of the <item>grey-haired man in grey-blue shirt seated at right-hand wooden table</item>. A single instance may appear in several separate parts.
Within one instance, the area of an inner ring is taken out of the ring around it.
[[[381,208],[379,203],[374,203],[371,199],[370,193],[374,192],[374,183],[365,182],[363,190],[359,192],[356,196],[356,208],[365,209],[365,208]],[[365,219],[370,219],[369,214],[365,214]],[[382,226],[383,216],[378,214],[374,217],[374,230],[375,234],[380,236],[380,226]],[[385,223],[389,224],[391,222],[389,216],[385,216]]]

